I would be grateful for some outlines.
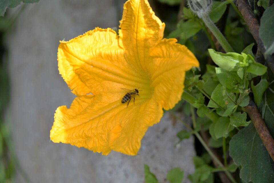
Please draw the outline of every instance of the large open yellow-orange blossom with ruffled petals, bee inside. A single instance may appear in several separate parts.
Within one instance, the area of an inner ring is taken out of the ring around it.
[[[199,63],[176,39],[163,39],[165,24],[147,0],[124,4],[119,35],[96,28],[60,41],[60,74],[76,95],[70,108],[57,108],[53,142],[84,147],[107,155],[111,150],[136,155],[149,126],[163,108],[174,107],[184,89],[185,71]],[[122,103],[138,89],[135,103]]]

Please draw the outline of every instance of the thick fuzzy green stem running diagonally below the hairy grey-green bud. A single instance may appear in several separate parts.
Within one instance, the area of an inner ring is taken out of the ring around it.
[[[216,27],[216,25],[211,21],[209,15],[205,15],[202,17],[202,20],[206,24],[206,26],[210,29],[210,31],[213,33],[213,35],[216,37],[216,39],[219,41],[220,45],[223,47],[225,52],[234,52],[231,45],[227,42],[223,34],[220,32],[220,30]]]

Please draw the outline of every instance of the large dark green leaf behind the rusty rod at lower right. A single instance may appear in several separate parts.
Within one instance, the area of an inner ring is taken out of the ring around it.
[[[265,92],[259,109],[269,132],[274,136],[274,83],[270,85],[270,88]],[[253,124],[241,129],[232,137],[229,153],[235,164],[241,166],[240,177],[245,182],[273,182],[274,162]]]

